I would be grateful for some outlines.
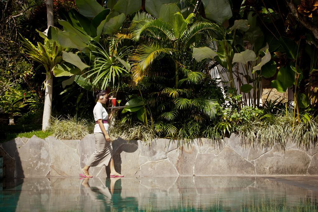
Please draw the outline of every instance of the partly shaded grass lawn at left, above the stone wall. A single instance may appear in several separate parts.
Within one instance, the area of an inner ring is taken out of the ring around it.
[[[0,143],[3,143],[8,140],[15,139],[17,137],[26,137],[31,138],[33,135],[36,135],[39,138],[46,138],[47,136],[52,135],[52,132],[41,130],[41,125],[34,124],[24,124],[24,125],[2,125],[0,126],[0,134],[4,135],[0,137]]]

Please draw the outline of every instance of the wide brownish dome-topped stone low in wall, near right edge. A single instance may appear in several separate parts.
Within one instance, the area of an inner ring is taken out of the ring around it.
[[[255,160],[256,174],[306,174],[309,156],[300,150],[271,150]]]

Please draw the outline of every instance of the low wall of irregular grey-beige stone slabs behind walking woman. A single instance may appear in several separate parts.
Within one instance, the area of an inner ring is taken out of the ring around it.
[[[232,134],[222,147],[206,139],[200,145],[177,148],[176,142],[158,139],[151,148],[141,141],[114,140],[115,168],[125,176],[268,176],[318,175],[318,149],[305,151],[293,143],[285,150],[242,148]],[[0,145],[7,178],[77,177],[95,149],[92,134],[82,140],[16,138]],[[109,174],[105,167],[92,167],[93,176]]]

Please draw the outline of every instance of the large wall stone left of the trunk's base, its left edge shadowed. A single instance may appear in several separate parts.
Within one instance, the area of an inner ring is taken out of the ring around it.
[[[50,147],[45,140],[33,135],[14,154],[15,177],[45,177],[50,171]]]

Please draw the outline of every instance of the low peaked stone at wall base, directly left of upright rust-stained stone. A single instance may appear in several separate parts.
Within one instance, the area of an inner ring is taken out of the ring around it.
[[[168,159],[147,162],[140,166],[141,177],[172,177],[178,175],[176,168]]]

